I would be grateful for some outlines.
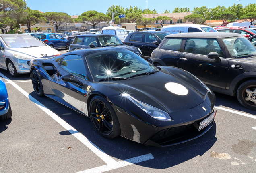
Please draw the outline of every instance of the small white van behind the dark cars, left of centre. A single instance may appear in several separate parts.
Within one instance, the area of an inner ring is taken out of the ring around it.
[[[126,29],[116,26],[103,27],[101,34],[113,34],[117,36],[122,42],[124,42],[125,38],[128,36]]]

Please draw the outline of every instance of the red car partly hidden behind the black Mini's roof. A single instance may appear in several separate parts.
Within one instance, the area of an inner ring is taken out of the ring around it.
[[[233,26],[233,27],[221,27],[215,28],[218,32],[233,32],[244,35],[246,38],[250,36],[256,35],[256,31],[250,28],[246,28],[243,26]]]

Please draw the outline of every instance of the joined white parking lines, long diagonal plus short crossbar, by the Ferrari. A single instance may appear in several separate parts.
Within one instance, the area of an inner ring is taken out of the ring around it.
[[[45,113],[50,115],[55,121],[57,121],[62,127],[64,127],[66,130],[68,130],[74,137],[76,137],[79,141],[81,141],[85,146],[87,146],[93,153],[95,153],[99,158],[101,158],[107,165],[103,165],[102,167],[102,172],[105,172],[107,170],[112,170],[112,169],[117,169],[120,167],[124,167],[127,165],[131,165],[134,163],[139,163],[142,161],[147,161],[150,159],[154,159],[152,154],[148,155],[142,155],[139,157],[134,157],[132,159],[127,159],[125,161],[115,161],[112,157],[104,153],[99,147],[97,147],[95,144],[93,144],[91,141],[89,141],[83,134],[78,132],[74,127],[70,126],[66,121],[58,117],[55,113],[50,111],[47,107],[42,105],[39,101],[37,101],[35,98],[33,98],[29,93],[27,93],[25,90],[23,90],[21,87],[19,87],[17,84],[12,82],[12,80],[8,79],[6,76],[4,76],[2,73],[0,73],[0,76],[7,80],[10,84],[12,84],[13,87],[18,89],[23,95],[25,95],[27,98],[29,98],[32,102],[34,102],[39,108],[41,108]],[[109,165],[109,166],[108,166]],[[96,168],[93,168],[96,169]],[[99,167],[97,167],[99,169]],[[88,169],[91,170],[91,169]],[[104,171],[105,170],[105,171]],[[86,170],[87,171],[87,170]]]

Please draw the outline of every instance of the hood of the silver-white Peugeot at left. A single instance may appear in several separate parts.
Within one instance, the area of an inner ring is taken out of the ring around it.
[[[15,52],[27,54],[35,58],[41,58],[44,56],[52,56],[60,54],[58,50],[51,48],[50,46],[30,47],[30,48],[12,48]]]

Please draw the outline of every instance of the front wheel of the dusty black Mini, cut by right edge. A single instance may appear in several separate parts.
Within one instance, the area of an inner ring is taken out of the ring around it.
[[[237,99],[244,107],[256,110],[256,80],[242,83],[237,90]]]

